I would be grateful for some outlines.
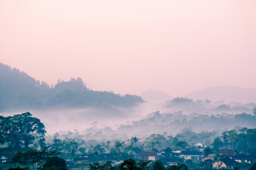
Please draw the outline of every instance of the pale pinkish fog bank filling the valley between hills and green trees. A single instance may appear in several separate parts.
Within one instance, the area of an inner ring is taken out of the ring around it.
[[[256,120],[251,117],[255,108],[254,103],[224,101],[212,103],[209,100],[193,101],[178,97],[160,103],[148,101],[136,107],[101,106],[58,109],[58,111],[30,111],[30,113],[43,122],[46,126],[46,135],[49,136],[59,133],[66,137],[69,131],[77,130],[79,138],[86,141],[114,139],[125,141],[133,136],[144,139],[151,134],[164,132],[176,135],[184,128],[191,128],[195,132],[213,130],[220,132],[245,126],[256,128]],[[12,116],[20,113],[22,112],[2,113],[2,115]],[[244,117],[242,122],[241,117]]]

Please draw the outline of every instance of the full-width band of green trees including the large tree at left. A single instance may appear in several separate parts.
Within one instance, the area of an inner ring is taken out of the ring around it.
[[[238,116],[239,117],[239,116]],[[253,119],[255,116],[251,116]],[[241,117],[240,117],[241,118]],[[182,124],[182,122],[181,122]],[[196,150],[195,143],[203,143],[213,151],[219,148],[233,148],[244,154],[256,154],[256,129],[237,126],[236,129],[219,131],[195,132],[184,128],[176,135],[167,132],[151,134],[146,138],[131,137],[125,140],[112,139],[105,141],[88,140],[86,135],[78,131],[66,135],[56,133],[53,137],[45,136],[44,125],[30,113],[14,116],[0,116],[0,141],[8,142],[6,148],[0,148],[2,154],[13,156],[16,152],[26,152],[30,149],[62,152],[61,158],[70,159],[80,154],[133,154],[139,151]]]

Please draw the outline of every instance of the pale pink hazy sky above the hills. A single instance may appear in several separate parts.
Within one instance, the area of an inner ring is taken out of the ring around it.
[[[56,84],[256,88],[256,1],[0,1],[0,62]]]

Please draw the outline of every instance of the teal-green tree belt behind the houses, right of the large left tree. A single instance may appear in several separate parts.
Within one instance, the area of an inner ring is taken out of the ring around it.
[[[196,141],[203,140],[204,146],[208,146],[212,151],[219,148],[233,148],[243,154],[256,154],[256,129],[242,128],[238,132],[234,130],[224,131],[217,136],[215,131],[203,131],[195,133],[190,129],[184,129],[175,136],[163,134],[152,134],[145,140],[138,137],[131,137],[126,141],[112,140],[106,142],[84,141],[82,139],[57,139],[55,137],[51,144],[47,146],[51,150],[64,153],[75,154],[104,154],[104,153],[127,153],[132,154],[137,151],[165,150],[166,152],[177,150],[196,150]],[[192,139],[192,140],[191,140]],[[209,151],[208,151],[209,152]]]

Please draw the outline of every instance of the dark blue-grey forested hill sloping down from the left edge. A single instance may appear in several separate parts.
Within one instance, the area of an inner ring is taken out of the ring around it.
[[[82,79],[69,82],[58,80],[53,87],[39,82],[23,71],[0,63],[0,112],[20,109],[42,110],[52,108],[86,108],[91,106],[115,105],[129,107],[142,103],[136,95],[114,94],[92,91],[86,88]]]

